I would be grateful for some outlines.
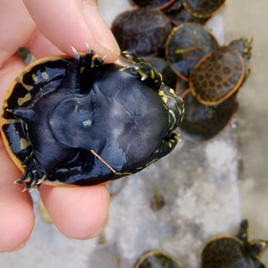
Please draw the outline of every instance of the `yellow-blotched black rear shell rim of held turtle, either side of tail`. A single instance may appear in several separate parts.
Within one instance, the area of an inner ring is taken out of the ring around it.
[[[25,125],[14,119],[13,113],[8,112],[6,107],[10,110],[26,107],[41,96],[43,90],[53,91],[62,82],[66,67],[72,60],[67,56],[38,60],[21,72],[6,93],[1,116],[2,130],[5,133],[2,138],[5,145],[9,144],[6,149],[21,171],[24,171],[21,163],[32,152],[32,146]],[[50,88],[50,84],[53,87]]]

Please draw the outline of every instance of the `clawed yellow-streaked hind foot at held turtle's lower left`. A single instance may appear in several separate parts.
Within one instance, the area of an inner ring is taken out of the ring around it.
[[[32,191],[37,188],[44,180],[46,180],[46,172],[38,165],[35,158],[30,155],[29,158],[22,164],[25,172],[20,180],[15,183],[25,183],[25,190]]]

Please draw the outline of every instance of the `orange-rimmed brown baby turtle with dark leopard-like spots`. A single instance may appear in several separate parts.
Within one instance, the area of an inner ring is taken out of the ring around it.
[[[204,105],[218,105],[233,95],[247,77],[252,39],[241,38],[206,54],[189,74],[189,87]]]

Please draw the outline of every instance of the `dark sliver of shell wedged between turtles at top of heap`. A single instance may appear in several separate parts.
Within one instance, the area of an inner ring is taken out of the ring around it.
[[[211,17],[207,18],[197,18],[181,6],[181,2],[175,2],[174,4],[163,9],[163,13],[172,21],[174,25],[180,25],[186,22],[196,22],[199,24],[205,24]]]

